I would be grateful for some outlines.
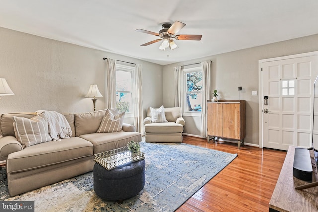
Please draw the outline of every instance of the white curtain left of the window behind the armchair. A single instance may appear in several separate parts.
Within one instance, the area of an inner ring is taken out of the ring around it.
[[[181,66],[173,67],[174,70],[174,80],[175,80],[175,90],[174,90],[174,107],[183,106],[184,101],[184,79]]]

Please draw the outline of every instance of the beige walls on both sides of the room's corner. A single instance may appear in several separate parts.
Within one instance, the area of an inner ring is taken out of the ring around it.
[[[55,110],[92,111],[92,101],[84,98],[90,84],[104,95],[105,61],[110,57],[143,66],[144,115],[149,106],[174,106],[173,67],[205,60],[212,61],[212,90],[222,99],[246,100],[247,143],[259,144],[258,60],[318,50],[318,34],[264,46],[212,55],[161,66],[135,58],[94,50],[0,27],[0,78],[6,78],[14,96],[3,96],[0,113]],[[173,51],[171,52],[173,53]],[[105,95],[96,109],[104,109]],[[184,132],[200,135],[200,118],[184,117]],[[132,123],[132,120],[125,120]]]

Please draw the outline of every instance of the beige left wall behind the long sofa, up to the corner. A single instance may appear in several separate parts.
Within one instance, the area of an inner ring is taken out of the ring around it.
[[[145,115],[147,107],[162,104],[161,65],[0,27],[0,78],[15,94],[2,97],[0,113],[92,111],[92,100],[84,98],[90,84],[104,96],[96,110],[104,109],[103,57],[142,64]]]

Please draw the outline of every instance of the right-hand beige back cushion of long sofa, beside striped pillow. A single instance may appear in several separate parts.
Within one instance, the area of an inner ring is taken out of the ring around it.
[[[109,110],[113,114],[118,113],[117,108],[109,109]],[[76,136],[89,134],[89,133],[96,133],[100,126],[101,120],[105,116],[105,113],[106,113],[106,109],[95,111],[95,112],[74,114]]]

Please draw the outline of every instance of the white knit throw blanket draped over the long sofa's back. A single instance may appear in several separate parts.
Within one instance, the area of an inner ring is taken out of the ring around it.
[[[61,139],[72,137],[70,124],[61,113],[47,110],[38,110],[36,113],[43,114],[48,120],[49,134],[53,141],[61,141]]]

